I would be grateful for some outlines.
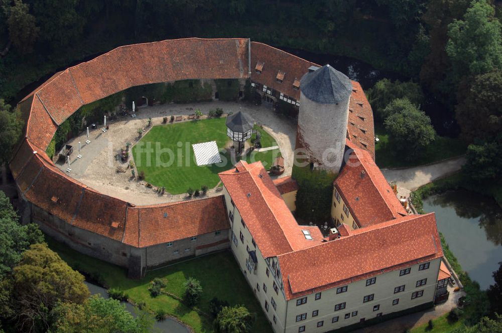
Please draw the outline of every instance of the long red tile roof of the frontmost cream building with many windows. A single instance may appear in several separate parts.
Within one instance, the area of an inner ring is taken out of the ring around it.
[[[430,213],[357,229],[278,259],[286,299],[292,299],[442,256],[436,219]]]

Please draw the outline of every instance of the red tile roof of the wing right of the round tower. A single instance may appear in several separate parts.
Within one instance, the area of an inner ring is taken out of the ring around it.
[[[369,152],[346,144],[352,152],[334,185],[357,224],[365,227],[407,215]]]

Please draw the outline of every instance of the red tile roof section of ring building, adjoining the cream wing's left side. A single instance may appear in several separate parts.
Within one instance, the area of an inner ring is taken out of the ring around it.
[[[136,247],[174,242],[230,228],[223,196],[129,207],[127,215],[124,243]]]

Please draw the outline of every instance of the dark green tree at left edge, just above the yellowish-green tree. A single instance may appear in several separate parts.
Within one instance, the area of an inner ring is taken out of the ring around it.
[[[0,278],[11,272],[30,245],[42,243],[44,236],[36,224],[22,226],[5,193],[0,191]]]

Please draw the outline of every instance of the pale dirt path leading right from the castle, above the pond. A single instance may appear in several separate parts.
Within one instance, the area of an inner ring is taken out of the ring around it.
[[[422,185],[428,184],[435,179],[447,176],[459,171],[465,163],[465,157],[460,156],[446,161],[414,167],[408,169],[382,169],[382,173],[388,182],[396,182],[398,187],[415,191]]]

